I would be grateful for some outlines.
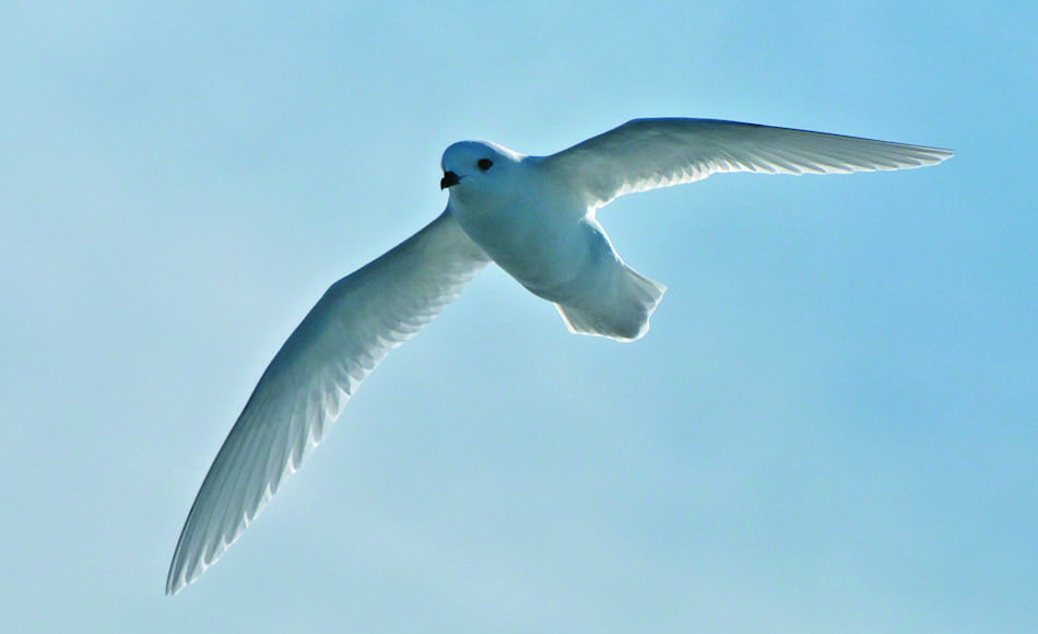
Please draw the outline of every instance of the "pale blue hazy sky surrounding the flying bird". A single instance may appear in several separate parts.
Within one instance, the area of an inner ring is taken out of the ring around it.
[[[1038,632],[1034,3],[221,4],[0,4],[0,629]],[[444,209],[448,144],[650,116],[957,156],[617,201],[670,287],[633,344],[487,270],[163,595],[260,373]]]

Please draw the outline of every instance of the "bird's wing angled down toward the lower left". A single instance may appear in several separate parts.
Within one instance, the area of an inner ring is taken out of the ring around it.
[[[274,356],[216,455],[180,532],[166,594],[220,559],[321,442],[364,377],[488,261],[448,209],[332,284]]]

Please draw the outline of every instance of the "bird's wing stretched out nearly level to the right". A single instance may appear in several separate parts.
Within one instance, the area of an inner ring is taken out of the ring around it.
[[[933,165],[948,150],[712,119],[635,119],[543,160],[599,208],[721,172],[846,174]]]

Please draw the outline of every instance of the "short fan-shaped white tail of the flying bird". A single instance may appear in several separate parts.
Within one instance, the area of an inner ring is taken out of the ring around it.
[[[627,265],[614,269],[601,294],[579,304],[555,304],[570,332],[634,341],[649,331],[649,317],[667,286]]]

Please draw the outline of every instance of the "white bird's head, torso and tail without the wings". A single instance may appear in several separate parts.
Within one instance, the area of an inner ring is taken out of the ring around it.
[[[492,165],[481,171],[480,161]],[[443,163],[445,173],[464,174],[467,187],[450,202],[461,228],[528,291],[555,304],[573,331],[620,340],[645,333],[664,286],[621,260],[594,207],[543,158],[463,141]]]

